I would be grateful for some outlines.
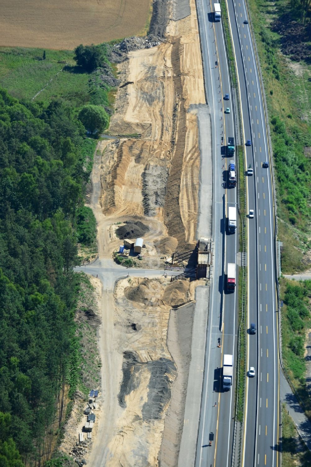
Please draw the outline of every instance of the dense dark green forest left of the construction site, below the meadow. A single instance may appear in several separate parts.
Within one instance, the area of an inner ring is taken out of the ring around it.
[[[0,466],[38,461],[69,375],[84,133],[62,102],[0,89]]]

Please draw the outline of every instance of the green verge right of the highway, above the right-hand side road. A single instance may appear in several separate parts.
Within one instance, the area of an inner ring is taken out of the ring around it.
[[[277,215],[283,221],[282,271],[301,271],[311,267],[310,23],[305,2],[249,0],[249,6],[270,118]]]

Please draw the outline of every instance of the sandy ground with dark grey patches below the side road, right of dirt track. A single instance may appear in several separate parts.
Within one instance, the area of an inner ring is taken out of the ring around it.
[[[188,297],[189,283],[121,280],[115,289],[114,326],[123,354],[115,432],[106,465],[157,465],[176,366],[166,346],[170,306]]]

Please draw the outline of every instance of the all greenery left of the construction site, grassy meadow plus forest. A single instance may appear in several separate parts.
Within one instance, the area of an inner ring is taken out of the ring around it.
[[[100,384],[93,287],[73,267],[97,251],[84,199],[118,83],[107,54],[104,44],[0,48],[3,465],[46,460],[53,434],[62,433],[55,419],[61,428],[64,401]],[[63,456],[51,461],[67,464]]]

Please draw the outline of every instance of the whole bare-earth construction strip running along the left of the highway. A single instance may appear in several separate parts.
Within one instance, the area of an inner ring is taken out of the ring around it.
[[[101,406],[85,456],[94,466],[177,465],[194,291],[205,283],[170,282],[163,269],[158,276],[154,271],[163,268],[166,255],[193,250],[196,243],[196,109],[205,95],[195,2],[190,0],[190,9],[187,2],[180,5],[179,11],[177,2],[174,8],[155,2],[156,17],[163,18],[159,8],[167,8],[166,15],[171,11],[175,18],[167,22],[163,42],[129,52],[118,64],[121,85],[109,128],[115,138],[98,144],[92,172],[96,264],[104,271]],[[155,27],[154,16],[152,21]],[[135,277],[134,270],[129,276],[113,262],[121,233],[132,235],[131,241],[141,233],[145,248],[136,266],[153,268],[152,278],[138,272]]]

